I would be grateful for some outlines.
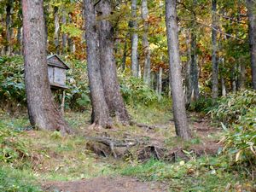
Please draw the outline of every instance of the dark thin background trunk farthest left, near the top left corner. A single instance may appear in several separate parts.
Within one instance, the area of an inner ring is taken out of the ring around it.
[[[5,52],[7,55],[10,55],[12,52],[12,47],[11,47],[11,39],[12,39],[12,34],[13,34],[13,29],[12,29],[12,12],[13,12],[13,7],[14,7],[14,0],[9,0],[7,1],[8,3],[6,4],[6,41],[7,44],[5,46]]]

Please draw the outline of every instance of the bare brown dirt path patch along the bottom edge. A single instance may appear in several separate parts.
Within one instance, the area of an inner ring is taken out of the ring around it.
[[[161,192],[166,191],[160,183],[143,183],[131,177],[96,177],[70,182],[48,182],[44,191],[60,192]]]

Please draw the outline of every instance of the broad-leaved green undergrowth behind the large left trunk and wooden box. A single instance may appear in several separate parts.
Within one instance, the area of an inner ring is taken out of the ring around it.
[[[82,111],[90,106],[89,85],[84,61],[71,60],[67,72],[66,108]],[[8,109],[26,107],[23,58],[0,57],[0,100]],[[56,93],[59,93],[57,91]],[[60,98],[56,98],[60,100]]]

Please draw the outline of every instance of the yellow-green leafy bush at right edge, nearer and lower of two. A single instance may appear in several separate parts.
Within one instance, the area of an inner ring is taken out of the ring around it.
[[[240,124],[233,125],[233,129],[225,130],[224,152],[236,164],[256,166],[256,108],[242,116]]]

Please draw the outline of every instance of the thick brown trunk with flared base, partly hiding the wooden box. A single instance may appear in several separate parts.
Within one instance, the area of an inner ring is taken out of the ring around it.
[[[46,61],[43,0],[22,1],[26,101],[29,119],[38,129],[67,133],[51,94]]]

